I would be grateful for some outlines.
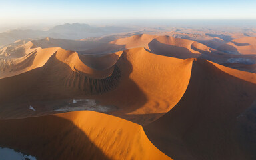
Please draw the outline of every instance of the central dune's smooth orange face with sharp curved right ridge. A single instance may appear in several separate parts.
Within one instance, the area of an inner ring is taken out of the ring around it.
[[[181,99],[189,83],[191,64],[191,60],[155,55],[144,48],[125,50],[116,63],[121,71],[118,87],[96,98],[104,105],[117,106],[119,110],[113,115],[149,123]]]

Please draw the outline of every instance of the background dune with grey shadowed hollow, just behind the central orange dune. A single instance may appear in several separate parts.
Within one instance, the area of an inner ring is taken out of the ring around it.
[[[117,39],[110,43],[115,45],[125,45],[126,49],[144,47],[157,55],[165,55],[181,59],[199,57],[202,53],[211,52],[209,47],[196,41],[147,34],[133,35],[127,38]]]

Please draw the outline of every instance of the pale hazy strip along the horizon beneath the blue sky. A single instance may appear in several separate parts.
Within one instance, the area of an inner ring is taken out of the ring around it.
[[[90,20],[63,20],[63,21],[13,21],[2,23],[0,32],[13,29],[47,30],[56,25],[65,23],[81,23],[92,26],[126,26],[126,27],[256,27],[256,19],[90,19]]]

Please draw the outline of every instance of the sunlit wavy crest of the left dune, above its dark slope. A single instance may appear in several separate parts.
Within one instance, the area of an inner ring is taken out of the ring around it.
[[[108,62],[107,58],[111,55],[105,55],[105,59],[97,57],[97,62],[103,61],[105,65],[101,65],[99,69],[93,69],[86,65],[86,62],[90,61],[94,63],[96,60],[88,57],[79,57],[78,53],[74,51],[67,51],[65,49],[61,49],[58,47],[46,48],[42,49],[41,47],[37,47],[35,49],[31,49],[33,46],[32,42],[26,43],[25,48],[25,56],[17,59],[3,59],[3,64],[1,64],[1,74],[0,78],[11,77],[14,75],[19,75],[21,73],[25,73],[27,71],[31,71],[32,69],[37,69],[39,67],[43,67],[48,61],[50,61],[51,57],[54,56],[60,63],[65,63],[71,67],[73,71],[79,71],[88,77],[93,78],[104,78],[111,75],[113,72],[113,62]],[[106,58],[107,57],[107,58]],[[119,56],[114,59],[117,61]],[[81,59],[83,58],[83,59]],[[111,59],[111,58],[109,58]],[[112,58],[113,59],[113,58]],[[87,60],[87,61],[86,61]],[[85,61],[85,63],[84,63]],[[47,67],[47,66],[45,66]]]

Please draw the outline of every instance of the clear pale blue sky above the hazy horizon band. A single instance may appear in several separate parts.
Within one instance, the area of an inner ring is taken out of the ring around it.
[[[256,19],[256,0],[0,0],[0,21]]]

